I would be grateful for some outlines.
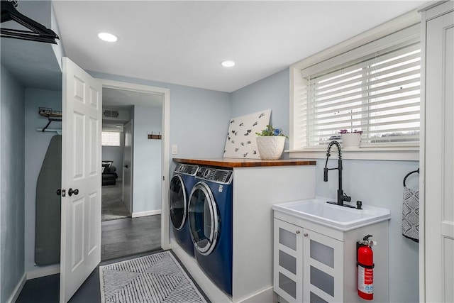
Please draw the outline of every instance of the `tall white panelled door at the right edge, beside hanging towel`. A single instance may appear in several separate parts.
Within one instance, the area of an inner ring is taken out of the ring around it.
[[[454,11],[426,33],[425,301],[454,302]]]

